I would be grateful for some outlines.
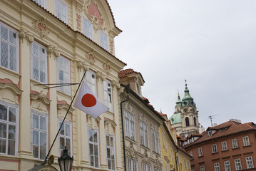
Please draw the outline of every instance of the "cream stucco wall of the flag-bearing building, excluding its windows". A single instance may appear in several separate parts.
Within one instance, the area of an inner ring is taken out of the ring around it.
[[[115,169],[123,170],[123,160],[120,157],[122,152],[116,150],[116,147],[118,149],[122,147],[118,71],[126,64],[113,56],[114,48],[111,47],[114,45],[113,38],[121,31],[115,26],[106,1],[62,1],[67,5],[68,26],[53,16],[56,15],[56,1],[45,2],[45,8],[50,12],[42,9],[34,1],[0,1],[0,24],[14,31],[15,34],[9,35],[16,38],[18,49],[16,71],[11,70],[10,67],[0,66],[0,104],[16,110],[15,133],[12,133],[9,127],[10,135],[15,135],[13,138],[14,154],[8,154],[3,150],[0,152],[0,170],[29,170],[34,165],[40,165],[43,162],[43,157],[41,159],[34,157],[33,144],[36,142],[32,138],[34,136],[32,118],[34,114],[39,115],[39,118],[46,118],[46,142],[42,143],[46,146],[47,154],[58,131],[58,123],[66,115],[71,99],[78,88],[77,85],[71,86],[70,89],[68,88],[70,93],[63,93],[57,88],[48,89],[50,86],[47,85],[36,86],[42,82],[33,78],[33,73],[36,72],[34,70],[38,69],[34,67],[33,70],[32,67],[34,61],[31,57],[31,48],[34,43],[43,46],[44,50],[40,51],[46,56],[46,71],[41,71],[42,74],[46,73],[46,81],[43,83],[57,83],[58,59],[63,56],[66,61],[70,62],[67,78],[71,83],[79,83],[85,71],[95,73],[96,95],[101,102],[104,100],[104,81],[108,81],[111,85],[113,110],[104,113],[96,120],[76,108],[71,108],[68,113],[66,123],[71,126],[69,138],[71,139],[71,155],[74,157],[73,169],[91,170],[94,168],[90,164],[89,157],[88,129],[91,128],[98,131],[98,167],[101,170],[108,170],[106,135],[113,135]],[[93,40],[79,33],[83,32],[81,18],[89,18],[86,8],[88,9],[91,5],[98,8],[104,21],[102,26],[93,24]],[[101,44],[100,31],[108,36],[107,51],[98,46]],[[11,125],[14,122],[10,123],[1,118],[0,123]],[[53,166],[57,168],[57,159],[61,155],[59,140],[57,138],[50,153],[55,158]],[[9,144],[11,145],[11,140]]]

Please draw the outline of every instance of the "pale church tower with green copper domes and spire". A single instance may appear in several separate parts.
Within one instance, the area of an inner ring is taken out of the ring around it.
[[[194,99],[189,93],[186,81],[183,100],[180,100],[180,95],[178,94],[175,112],[170,117],[170,123],[183,138],[190,134],[199,133],[198,110]]]

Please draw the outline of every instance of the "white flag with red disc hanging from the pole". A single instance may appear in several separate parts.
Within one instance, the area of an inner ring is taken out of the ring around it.
[[[73,105],[75,108],[82,110],[83,112],[91,115],[93,118],[97,118],[102,113],[109,110],[108,107],[103,105],[100,100],[93,94],[86,83],[82,83],[76,101]]]

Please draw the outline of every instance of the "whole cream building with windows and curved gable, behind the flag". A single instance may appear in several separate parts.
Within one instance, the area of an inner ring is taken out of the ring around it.
[[[126,63],[115,57],[121,30],[108,2],[2,0],[0,26],[0,170],[43,162],[78,88],[47,84],[79,83],[85,71],[84,81],[110,110],[95,120],[71,108],[48,170],[58,168],[65,145],[73,170],[123,170],[118,71]]]

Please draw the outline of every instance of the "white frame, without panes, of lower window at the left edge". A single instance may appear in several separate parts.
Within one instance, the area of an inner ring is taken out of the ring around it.
[[[4,138],[4,137],[1,138],[0,137],[0,140],[6,140],[6,143],[5,143],[6,149],[5,149],[5,152],[0,152],[0,155],[16,156],[16,155],[18,155],[18,146],[19,146],[19,105],[14,105],[14,104],[11,104],[11,103],[6,103],[6,102],[4,102],[2,100],[0,100],[0,105],[4,105],[7,108],[6,120],[4,120],[2,118],[3,115],[0,113],[0,115],[1,115],[0,123],[6,125],[6,138]],[[16,115],[15,123],[10,121],[10,113],[9,113],[10,108],[15,110],[15,115]],[[9,138],[9,126],[11,126],[11,125],[15,126],[15,133],[16,133],[15,134],[15,140],[14,140],[14,142],[15,142],[14,154],[9,154],[9,151],[8,151],[9,140],[10,140],[10,138]]]

